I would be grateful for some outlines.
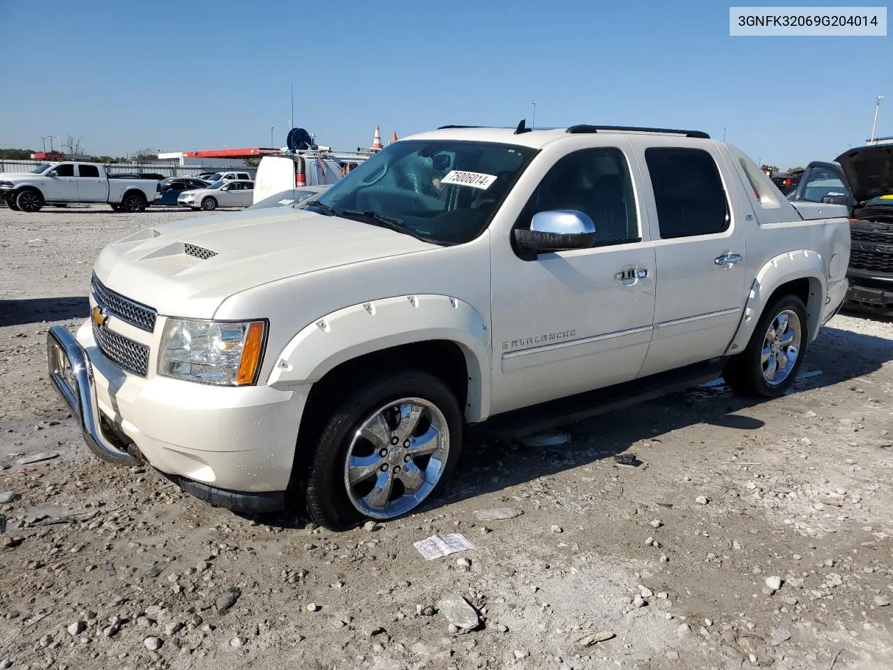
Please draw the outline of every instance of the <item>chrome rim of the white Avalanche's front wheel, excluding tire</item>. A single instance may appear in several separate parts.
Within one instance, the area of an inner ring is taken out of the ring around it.
[[[417,507],[447,465],[447,418],[421,398],[402,398],[377,409],[347,449],[344,483],[363,515],[389,519]]]

